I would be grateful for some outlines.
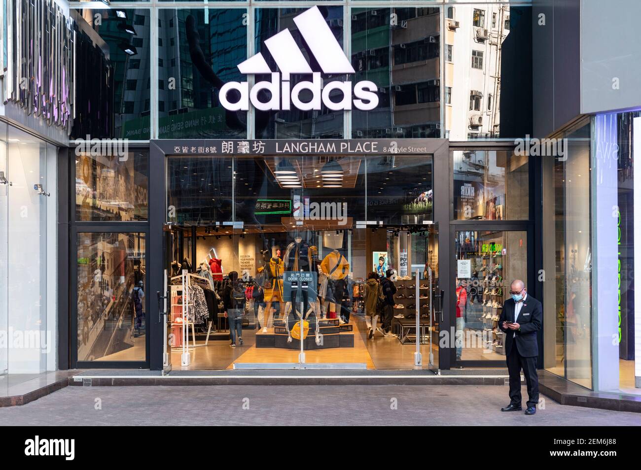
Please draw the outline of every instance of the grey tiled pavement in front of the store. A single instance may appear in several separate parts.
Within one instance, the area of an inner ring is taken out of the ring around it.
[[[641,414],[562,406],[503,413],[494,385],[220,385],[66,387],[0,408],[3,425],[640,426]],[[527,396],[523,390],[523,396]],[[396,409],[392,409],[396,404]],[[525,404],[525,403],[524,403]]]

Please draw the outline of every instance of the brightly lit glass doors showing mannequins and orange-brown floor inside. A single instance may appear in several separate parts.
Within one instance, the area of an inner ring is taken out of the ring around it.
[[[435,224],[288,222],[165,227],[165,368],[438,369]]]

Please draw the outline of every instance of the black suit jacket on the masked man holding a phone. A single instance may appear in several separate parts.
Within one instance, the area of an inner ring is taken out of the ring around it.
[[[523,357],[538,356],[538,341],[537,331],[541,329],[543,320],[543,308],[541,302],[538,302],[533,296],[529,295],[523,301],[523,306],[519,312],[519,318],[516,323],[520,325],[520,331],[515,331],[510,328],[504,329],[504,321],[514,321],[514,308],[516,302],[512,298],[508,298],[503,304],[503,312],[499,318],[499,328],[505,332],[505,353],[509,354],[516,344],[519,354]]]

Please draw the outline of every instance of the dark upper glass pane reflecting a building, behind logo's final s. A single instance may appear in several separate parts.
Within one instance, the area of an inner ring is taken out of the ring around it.
[[[352,10],[356,81],[379,87],[373,111],[353,111],[353,137],[440,137],[439,8]]]

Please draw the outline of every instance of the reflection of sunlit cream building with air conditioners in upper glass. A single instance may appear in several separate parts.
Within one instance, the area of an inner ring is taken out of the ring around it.
[[[445,8],[445,137],[499,138],[501,51],[510,6]]]

